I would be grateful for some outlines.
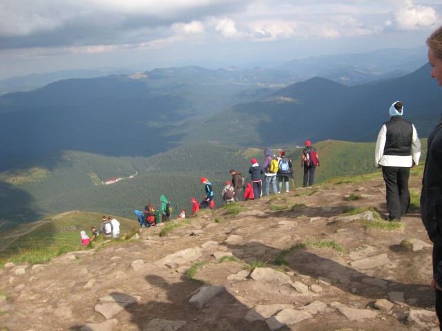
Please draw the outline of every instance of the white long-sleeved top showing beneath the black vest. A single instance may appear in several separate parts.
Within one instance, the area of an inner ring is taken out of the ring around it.
[[[419,164],[421,157],[421,141],[417,137],[416,128],[413,127],[412,135],[412,154],[411,155],[384,155],[385,142],[387,141],[387,126],[384,124],[378,134],[376,141],[376,152],[374,153],[374,164],[376,168],[381,165],[385,167],[411,167],[414,164]]]

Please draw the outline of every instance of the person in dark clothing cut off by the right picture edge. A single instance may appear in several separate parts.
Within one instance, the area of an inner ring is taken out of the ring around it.
[[[442,86],[442,26],[427,39],[431,77]],[[422,177],[421,217],[433,245],[433,278],[436,314],[442,330],[442,117],[427,141],[427,158]]]

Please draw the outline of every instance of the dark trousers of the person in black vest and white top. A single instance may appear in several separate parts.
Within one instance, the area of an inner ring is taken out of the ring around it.
[[[385,181],[388,219],[400,220],[407,214],[410,206],[410,191],[408,190],[409,167],[384,167],[382,174]]]

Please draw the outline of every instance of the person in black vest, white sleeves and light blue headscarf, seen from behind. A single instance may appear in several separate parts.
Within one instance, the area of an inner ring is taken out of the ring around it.
[[[421,141],[414,125],[403,119],[403,103],[396,101],[389,110],[390,121],[384,123],[376,141],[375,163],[382,167],[387,210],[390,221],[401,221],[410,206],[408,178],[410,168],[419,164]],[[411,153],[411,154],[410,154]]]

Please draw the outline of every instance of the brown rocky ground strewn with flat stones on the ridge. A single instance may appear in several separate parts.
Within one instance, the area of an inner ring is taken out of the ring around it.
[[[361,199],[348,201],[352,193]],[[347,205],[386,212],[381,178],[240,205],[247,211],[236,217],[204,211],[166,237],[161,226],[144,228],[140,239],[45,265],[8,263],[0,330],[439,330],[419,213],[396,231],[343,217]],[[296,243],[321,240],[345,252],[313,245],[287,252],[287,265],[274,263]]]

